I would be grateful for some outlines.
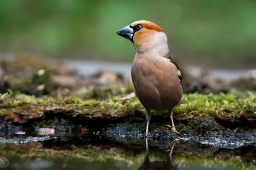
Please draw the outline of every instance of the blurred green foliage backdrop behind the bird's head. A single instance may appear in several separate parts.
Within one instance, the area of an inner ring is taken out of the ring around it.
[[[131,62],[116,31],[136,20],[163,28],[185,64],[256,65],[256,0],[0,0],[0,53]]]

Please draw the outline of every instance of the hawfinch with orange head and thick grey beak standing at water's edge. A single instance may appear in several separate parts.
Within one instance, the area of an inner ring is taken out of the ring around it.
[[[163,29],[150,21],[135,21],[116,34],[131,40],[136,54],[131,68],[131,78],[136,94],[145,107],[146,136],[151,119],[151,109],[169,109],[172,130],[180,134],[173,123],[173,107],[182,97],[181,72],[169,56],[167,37]]]

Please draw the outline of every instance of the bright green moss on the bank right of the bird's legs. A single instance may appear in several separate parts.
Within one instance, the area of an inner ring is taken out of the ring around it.
[[[220,116],[226,113],[232,113],[232,116],[254,115],[255,110],[256,94],[245,95],[234,91],[228,94],[183,95],[181,104],[174,108],[175,113],[194,112],[199,116]]]

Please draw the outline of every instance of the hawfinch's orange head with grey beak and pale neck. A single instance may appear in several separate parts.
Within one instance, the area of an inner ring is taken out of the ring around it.
[[[163,29],[150,21],[135,21],[116,34],[131,40],[134,43],[137,54],[149,53],[169,57],[167,37]]]

